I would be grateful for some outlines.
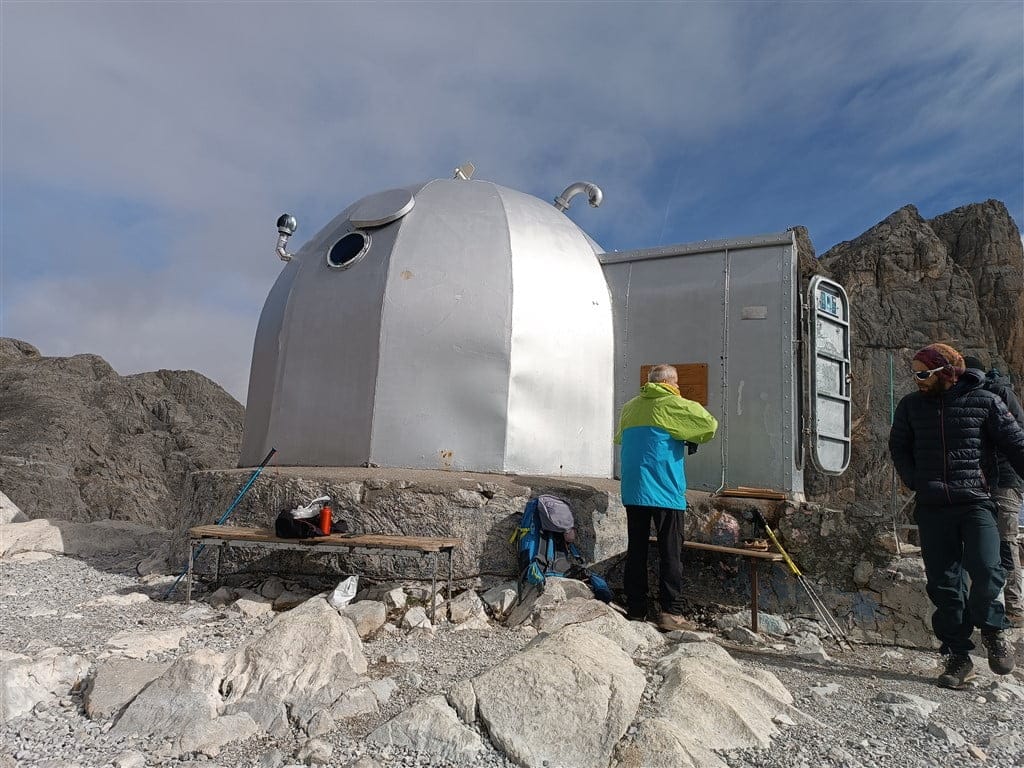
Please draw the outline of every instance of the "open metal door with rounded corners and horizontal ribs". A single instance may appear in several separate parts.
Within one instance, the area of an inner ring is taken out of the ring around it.
[[[850,465],[850,300],[817,275],[807,288],[807,366],[811,461],[825,474]]]

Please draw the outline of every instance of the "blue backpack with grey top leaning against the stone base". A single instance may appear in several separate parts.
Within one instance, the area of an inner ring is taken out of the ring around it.
[[[585,582],[599,600],[611,601],[607,583],[583,567],[583,556],[574,544],[575,521],[564,499],[548,494],[530,499],[510,541],[517,546],[520,600],[528,587],[543,592],[547,578],[553,575]]]

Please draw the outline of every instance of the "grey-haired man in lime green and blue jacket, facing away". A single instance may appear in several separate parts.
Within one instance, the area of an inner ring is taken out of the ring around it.
[[[679,394],[673,366],[654,366],[640,394],[623,407],[615,442],[622,444],[622,497],[626,505],[626,604],[631,618],[647,615],[647,543],[657,531],[662,614],[667,631],[690,627],[682,616],[683,513],[686,443],[708,442],[718,421],[699,402]]]

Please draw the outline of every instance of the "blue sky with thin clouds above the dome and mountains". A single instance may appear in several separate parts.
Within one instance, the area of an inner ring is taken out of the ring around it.
[[[0,4],[0,334],[245,398],[282,263],[355,200],[484,178],[606,249],[907,203],[1024,221],[1024,4]]]

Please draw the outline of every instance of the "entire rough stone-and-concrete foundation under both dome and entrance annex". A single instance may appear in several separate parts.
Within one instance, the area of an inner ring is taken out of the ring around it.
[[[190,476],[189,503],[178,516],[172,536],[172,548],[180,561],[187,557],[188,528],[216,522],[251,473],[249,469],[233,469]],[[626,552],[626,510],[614,480],[362,467],[271,467],[250,488],[229,523],[272,526],[282,509],[329,495],[334,499],[335,517],[344,519],[354,532],[463,539],[464,545],[454,558],[457,586],[481,589],[515,578],[515,552],[509,538],[526,502],[538,494],[555,494],[569,502],[584,558],[617,593]],[[907,567],[920,569],[920,558],[894,561],[872,547],[874,561],[861,559],[857,552],[868,545],[858,546],[858,542],[866,531],[859,531],[841,513],[814,505],[699,492],[688,493],[687,504],[686,538],[724,546],[735,546],[756,534],[750,513],[757,507],[818,586],[837,617],[855,635],[881,642],[929,644],[923,578],[915,571],[903,572]],[[214,554],[204,554],[197,563],[198,572],[209,572],[214,562]],[[857,564],[856,570],[862,573],[859,580],[853,579],[855,568],[850,563]],[[439,568],[442,572],[444,564]],[[244,569],[286,578],[314,575],[326,580],[358,573],[372,582],[422,583],[430,579],[431,563],[429,558],[380,552],[301,555],[236,550],[225,553],[223,565],[227,572]],[[653,600],[657,594],[653,547],[649,566]],[[750,567],[744,558],[687,550],[684,593],[693,606],[742,608],[750,599]],[[757,567],[763,610],[814,615],[785,565],[760,563]]]

